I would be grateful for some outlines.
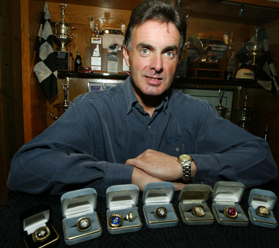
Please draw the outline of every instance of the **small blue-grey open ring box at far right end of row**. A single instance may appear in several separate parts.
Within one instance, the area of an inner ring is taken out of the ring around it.
[[[251,223],[257,226],[276,228],[277,220],[272,211],[276,203],[276,199],[277,197],[272,191],[252,189],[248,198],[248,215]],[[270,216],[265,217],[256,215],[256,209],[258,206],[269,208]]]

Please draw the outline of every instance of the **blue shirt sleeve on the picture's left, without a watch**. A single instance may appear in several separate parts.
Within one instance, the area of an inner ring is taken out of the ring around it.
[[[94,133],[101,132],[98,114],[91,111],[91,118],[85,117],[77,105],[70,103],[53,125],[15,154],[7,182],[10,190],[63,194],[94,188],[105,197],[109,186],[130,183],[133,166],[109,163],[95,154]]]

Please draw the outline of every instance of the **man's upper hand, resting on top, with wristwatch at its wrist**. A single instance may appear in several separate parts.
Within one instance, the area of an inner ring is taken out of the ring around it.
[[[128,159],[125,164],[133,165],[147,174],[164,181],[182,179],[183,171],[176,157],[148,149],[136,158]]]

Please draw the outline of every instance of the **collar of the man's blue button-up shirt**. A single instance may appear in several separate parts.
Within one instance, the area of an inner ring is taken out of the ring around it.
[[[128,76],[128,78],[125,80],[123,85],[123,90],[127,102],[126,115],[128,115],[132,111],[132,107],[135,106],[135,104],[138,102],[137,97],[135,96],[135,93],[133,91],[131,76]],[[167,114],[168,99],[169,99],[169,90],[164,92],[164,98],[155,110],[159,110],[163,108],[163,111]]]

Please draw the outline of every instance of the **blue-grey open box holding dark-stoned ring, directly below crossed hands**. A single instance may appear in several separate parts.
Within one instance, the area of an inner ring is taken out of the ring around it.
[[[174,196],[175,186],[171,182],[148,183],[144,187],[142,195],[143,213],[146,225],[149,228],[176,226],[178,217],[171,204]],[[154,210],[158,207],[167,209],[165,218],[157,218],[154,215]]]

